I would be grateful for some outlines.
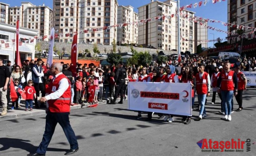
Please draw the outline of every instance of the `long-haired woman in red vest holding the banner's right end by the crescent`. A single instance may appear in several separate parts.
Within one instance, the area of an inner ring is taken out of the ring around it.
[[[194,100],[193,98],[195,99],[194,97],[194,87],[195,87],[195,77],[193,76],[193,71],[192,71],[192,68],[191,67],[185,67],[185,70],[183,71],[182,73],[182,76],[181,76],[181,83],[190,83],[191,84],[191,87],[192,87],[192,107],[194,107]],[[187,119],[186,119],[187,118]],[[186,124],[189,125],[190,122],[191,122],[191,116],[183,116],[182,122],[185,122],[186,121]]]

